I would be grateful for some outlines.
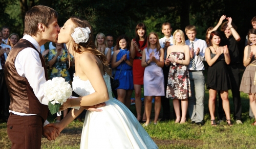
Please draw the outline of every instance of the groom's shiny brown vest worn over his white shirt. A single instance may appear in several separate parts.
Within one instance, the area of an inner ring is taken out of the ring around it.
[[[34,45],[28,40],[20,39],[13,46],[5,63],[5,80],[11,100],[9,110],[26,114],[37,114],[46,120],[49,111],[48,106],[42,105],[39,102],[33,92],[33,89],[29,85],[27,78],[19,76],[14,66],[18,53],[27,47],[32,47],[36,52],[38,52]],[[39,52],[38,54],[40,56],[42,67],[45,68],[45,77],[47,79],[47,70],[44,59],[42,59]],[[29,59],[27,61],[29,61]]]

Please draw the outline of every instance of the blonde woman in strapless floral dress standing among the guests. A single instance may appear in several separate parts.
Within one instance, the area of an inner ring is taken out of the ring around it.
[[[176,30],[173,37],[174,45],[167,48],[168,58],[165,60],[165,65],[170,65],[166,98],[173,99],[174,110],[176,113],[175,122],[184,123],[186,121],[188,106],[187,98],[188,96],[191,96],[187,69],[187,65],[190,61],[189,47],[188,45],[185,45],[185,36],[181,30]],[[182,116],[179,100],[181,100]]]

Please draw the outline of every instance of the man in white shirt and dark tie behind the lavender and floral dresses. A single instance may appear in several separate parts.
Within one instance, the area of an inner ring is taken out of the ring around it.
[[[167,58],[167,47],[173,45],[173,35],[172,35],[172,26],[170,23],[165,22],[162,24],[162,33],[164,37],[159,39],[160,46],[164,49],[164,60]],[[168,73],[170,66],[163,66],[163,76],[164,76],[164,92],[166,93]],[[170,102],[169,98],[161,96],[161,103],[163,107],[163,116],[160,121],[170,120]]]

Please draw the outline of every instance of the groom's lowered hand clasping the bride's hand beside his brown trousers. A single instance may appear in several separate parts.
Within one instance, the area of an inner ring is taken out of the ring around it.
[[[59,136],[60,131],[52,127],[50,124],[45,126],[42,130],[42,135],[45,136],[49,141],[55,140]]]

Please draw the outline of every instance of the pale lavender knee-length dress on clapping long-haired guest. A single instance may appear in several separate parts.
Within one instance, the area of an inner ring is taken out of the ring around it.
[[[154,51],[154,56],[157,60],[160,60],[160,51],[157,52],[157,48],[152,50],[145,48],[146,61],[150,60],[150,54]],[[164,96],[164,78],[163,69],[159,67],[155,62],[151,62],[150,65],[145,67],[144,71],[144,96]]]

